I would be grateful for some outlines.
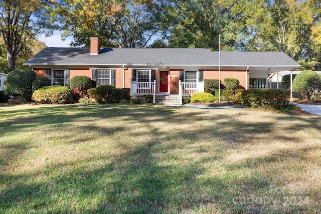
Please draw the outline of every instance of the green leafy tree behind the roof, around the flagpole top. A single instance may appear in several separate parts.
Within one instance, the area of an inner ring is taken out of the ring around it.
[[[243,50],[247,31],[243,16],[231,13],[236,1],[230,0],[169,0],[169,47],[212,48],[218,50],[218,35],[222,35],[222,50]],[[159,43],[159,41],[157,41]],[[157,45],[157,44],[155,44]]]

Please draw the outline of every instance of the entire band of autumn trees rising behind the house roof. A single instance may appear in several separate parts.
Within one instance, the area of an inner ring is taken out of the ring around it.
[[[75,47],[99,37],[103,47],[218,50],[222,35],[223,51],[282,51],[321,69],[319,0],[0,0],[0,15],[9,69],[28,40],[56,28]]]

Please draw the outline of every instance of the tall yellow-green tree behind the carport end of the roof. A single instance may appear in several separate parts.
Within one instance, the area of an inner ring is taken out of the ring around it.
[[[253,34],[247,40],[248,50],[282,51],[312,69],[318,64],[317,47],[311,41],[313,26],[319,23],[320,3],[316,0],[252,0]]]

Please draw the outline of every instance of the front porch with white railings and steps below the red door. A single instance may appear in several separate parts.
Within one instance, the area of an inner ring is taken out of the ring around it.
[[[162,103],[162,104],[172,104],[174,97],[177,97],[178,100],[175,101],[175,103],[178,102],[178,104],[183,104],[182,97],[184,96],[191,96],[192,94],[198,93],[198,92],[204,92],[204,81],[202,82],[181,82],[181,80],[178,83],[178,93],[172,93],[172,94],[162,94],[159,93],[156,89],[156,81],[153,82],[138,82],[138,81],[130,81],[130,97],[135,97],[138,99],[143,100],[143,95],[146,94],[152,94],[153,95],[153,103]],[[156,96],[158,99],[156,99]],[[161,97],[167,97],[170,99],[159,99]],[[161,101],[159,101],[161,100]],[[165,101],[168,100],[168,101]]]

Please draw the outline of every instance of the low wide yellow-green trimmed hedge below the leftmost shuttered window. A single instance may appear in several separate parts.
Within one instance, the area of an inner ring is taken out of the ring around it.
[[[47,86],[34,92],[32,99],[43,104],[67,104],[73,101],[68,86]]]

